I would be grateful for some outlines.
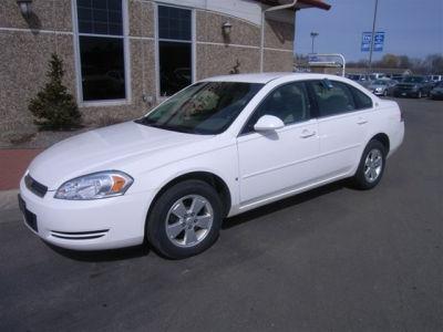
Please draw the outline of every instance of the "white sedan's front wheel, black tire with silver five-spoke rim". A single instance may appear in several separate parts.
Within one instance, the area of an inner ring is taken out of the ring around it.
[[[158,253],[183,259],[208,249],[218,238],[222,221],[223,205],[217,191],[203,180],[184,180],[154,203],[146,238]]]

